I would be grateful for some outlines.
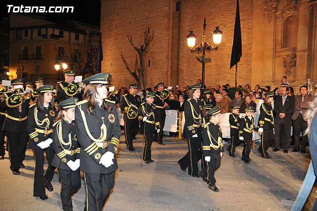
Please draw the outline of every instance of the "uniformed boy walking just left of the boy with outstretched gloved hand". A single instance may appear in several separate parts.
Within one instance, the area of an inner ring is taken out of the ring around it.
[[[240,104],[235,104],[231,106],[232,113],[229,115],[229,124],[230,124],[230,137],[231,137],[231,144],[227,147],[229,152],[229,156],[236,157],[237,155],[234,154],[236,150],[236,146],[239,145],[239,126],[241,118],[239,117],[239,109]]]

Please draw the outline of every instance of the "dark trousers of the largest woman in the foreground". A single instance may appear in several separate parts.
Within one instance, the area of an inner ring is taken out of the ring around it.
[[[110,174],[84,173],[85,179],[85,209],[84,211],[102,211],[111,188],[113,187],[115,171]]]

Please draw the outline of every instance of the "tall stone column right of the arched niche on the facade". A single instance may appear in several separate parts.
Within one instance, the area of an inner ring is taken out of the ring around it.
[[[305,82],[307,74],[308,55],[308,2],[301,0],[299,6],[298,35],[297,35],[297,61],[296,61],[296,81]]]

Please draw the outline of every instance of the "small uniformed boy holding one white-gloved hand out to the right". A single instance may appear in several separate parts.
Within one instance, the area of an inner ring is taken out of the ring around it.
[[[256,111],[253,106],[246,106],[245,112],[246,116],[241,119],[240,127],[239,127],[239,139],[244,140],[245,144],[242,152],[242,160],[245,163],[250,163],[251,159],[249,157],[251,151],[251,141],[253,136],[253,131],[258,131],[259,133],[263,132],[263,129],[259,129],[254,125],[253,114]]]

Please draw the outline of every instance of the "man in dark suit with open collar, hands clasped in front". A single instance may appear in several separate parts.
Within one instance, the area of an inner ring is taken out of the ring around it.
[[[288,153],[290,146],[290,134],[292,124],[292,114],[295,110],[295,97],[288,95],[287,86],[280,86],[280,96],[276,97],[274,103],[274,121],[275,121],[275,144],[273,151],[284,149]]]

